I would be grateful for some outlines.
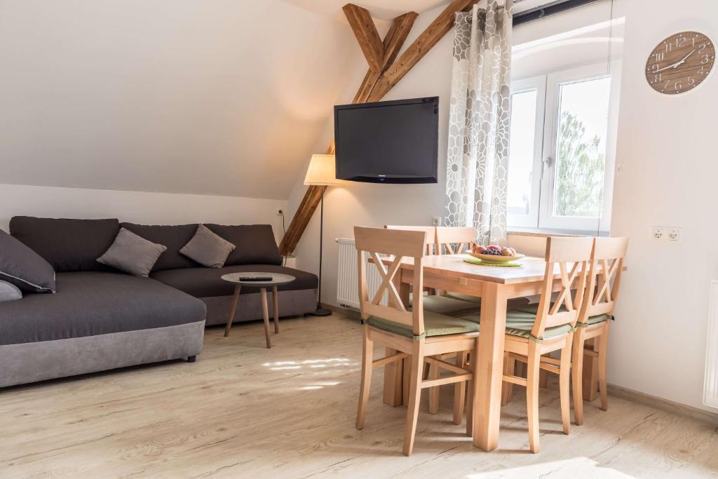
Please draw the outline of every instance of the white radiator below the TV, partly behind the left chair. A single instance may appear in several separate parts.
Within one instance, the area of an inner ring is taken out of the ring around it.
[[[337,274],[337,304],[344,307],[359,307],[359,276],[357,264],[357,248],[354,238],[337,238],[339,246],[339,271]],[[376,270],[376,265],[367,261],[368,254],[364,253],[366,264],[366,283],[369,298],[373,298],[379,285],[381,276]],[[381,300],[386,305],[386,293]]]

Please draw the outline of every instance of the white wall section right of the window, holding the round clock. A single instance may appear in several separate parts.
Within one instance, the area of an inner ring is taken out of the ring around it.
[[[648,86],[643,68],[653,47],[676,32],[718,41],[718,2],[650,3],[618,2],[627,22],[611,233],[629,236],[630,246],[610,382],[701,407],[709,280],[718,278],[718,78],[669,97]],[[684,240],[651,241],[651,225],[681,226]]]

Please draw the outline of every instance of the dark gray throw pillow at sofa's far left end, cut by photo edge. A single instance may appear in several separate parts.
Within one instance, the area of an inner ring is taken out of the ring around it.
[[[0,280],[24,293],[54,293],[55,270],[39,254],[0,230]]]

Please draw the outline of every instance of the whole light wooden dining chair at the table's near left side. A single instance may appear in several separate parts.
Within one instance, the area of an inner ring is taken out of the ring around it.
[[[354,236],[359,258],[362,258],[363,251],[368,252],[382,278],[381,286],[373,298],[370,298],[365,271],[367,266],[364,261],[358,261],[363,353],[356,427],[357,429],[364,427],[372,369],[406,358],[404,361],[409,361],[411,368],[409,368],[409,404],[406,413],[404,454],[411,455],[416,434],[416,421],[419,417],[421,389],[440,384],[465,383],[473,378],[470,369],[447,363],[437,359],[436,356],[473,350],[477,345],[479,325],[475,322],[424,310],[422,258],[426,245],[426,232],[357,226],[354,228]],[[381,254],[393,256],[388,267],[381,262],[382,259],[379,256]],[[404,305],[406,294],[402,299],[394,284],[404,258],[413,260],[414,266],[412,284],[414,306],[411,310],[407,310]],[[388,294],[386,306],[381,304],[384,292]],[[375,342],[398,350],[399,353],[374,360],[373,345]],[[442,371],[447,371],[449,375],[425,380],[425,361],[437,364]]]

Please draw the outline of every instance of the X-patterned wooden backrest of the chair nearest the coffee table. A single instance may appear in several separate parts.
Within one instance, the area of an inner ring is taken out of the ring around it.
[[[362,228],[354,227],[354,239],[358,257],[358,275],[359,275],[359,304],[361,317],[367,320],[371,316],[381,317],[385,320],[401,323],[411,326],[414,335],[424,334],[424,307],[422,294],[424,289],[424,274],[421,270],[421,259],[424,256],[426,247],[426,232],[415,230],[396,230],[381,228]],[[370,260],[373,262],[381,276],[381,284],[374,294],[373,298],[369,297],[366,265],[362,261],[363,252],[369,254]],[[391,264],[386,266],[380,255],[390,255]],[[401,261],[404,258],[414,259],[414,279],[413,293],[414,305],[411,311],[406,310],[404,303],[401,301],[398,290],[393,282],[396,274],[398,274]],[[381,303],[384,292],[388,294],[387,305]]]

